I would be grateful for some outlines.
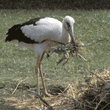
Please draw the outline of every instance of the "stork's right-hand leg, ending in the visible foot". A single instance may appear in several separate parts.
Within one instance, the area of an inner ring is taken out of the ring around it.
[[[43,77],[43,73],[42,73],[42,64],[41,63],[43,61],[44,55],[45,55],[45,52],[43,52],[41,59],[40,59],[40,64],[39,64],[40,76],[41,76],[42,86],[43,86],[43,95],[51,96],[50,94],[47,93],[47,89],[45,86],[45,81],[44,81],[44,77]]]

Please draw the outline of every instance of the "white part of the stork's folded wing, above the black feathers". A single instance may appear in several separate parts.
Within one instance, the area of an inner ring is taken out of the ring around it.
[[[60,37],[62,23],[54,18],[43,18],[33,24],[21,27],[27,37],[41,42],[45,39],[57,40]],[[54,35],[54,37],[52,36]],[[45,36],[45,37],[44,37]],[[59,37],[57,37],[59,36]]]

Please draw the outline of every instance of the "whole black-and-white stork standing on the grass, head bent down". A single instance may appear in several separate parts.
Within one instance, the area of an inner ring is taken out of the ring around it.
[[[71,42],[75,46],[73,35],[73,24],[75,20],[71,16],[65,16],[62,23],[50,17],[39,17],[31,19],[25,23],[12,26],[8,32],[5,42],[18,41],[21,47],[34,48],[37,56],[35,73],[37,78],[37,93],[40,94],[39,73],[42,80],[43,94],[50,96],[47,93],[43,73],[42,61],[47,50],[50,47],[58,44],[67,44]]]

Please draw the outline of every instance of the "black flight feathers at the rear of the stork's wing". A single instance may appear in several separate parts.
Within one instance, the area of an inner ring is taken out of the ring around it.
[[[24,33],[21,30],[21,27],[25,26],[25,25],[30,25],[30,24],[36,25],[35,22],[39,21],[42,18],[39,17],[39,18],[31,19],[31,20],[29,20],[25,23],[22,23],[22,24],[14,25],[6,33],[6,35],[8,35],[8,36],[6,37],[5,42],[12,41],[12,40],[18,40],[19,42],[25,42],[25,43],[28,43],[28,44],[39,43],[39,42],[36,42],[35,40],[32,40],[29,37],[25,36]]]

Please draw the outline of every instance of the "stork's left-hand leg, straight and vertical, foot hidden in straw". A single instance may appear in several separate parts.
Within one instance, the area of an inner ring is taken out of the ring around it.
[[[37,78],[37,93],[40,94],[40,88],[39,88],[39,62],[40,62],[40,55],[37,57],[37,62],[35,66],[35,73],[36,73],[36,78]]]

